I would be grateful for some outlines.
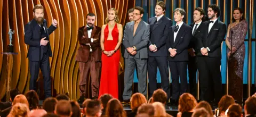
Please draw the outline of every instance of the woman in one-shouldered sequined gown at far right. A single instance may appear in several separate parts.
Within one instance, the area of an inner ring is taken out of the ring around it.
[[[242,104],[245,55],[244,39],[247,33],[247,22],[244,19],[242,9],[235,8],[233,10],[232,21],[233,23],[228,26],[226,39],[228,47],[228,94],[233,96],[239,104]]]

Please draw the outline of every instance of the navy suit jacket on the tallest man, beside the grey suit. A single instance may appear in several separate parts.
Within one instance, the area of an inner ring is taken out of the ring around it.
[[[168,56],[166,48],[166,39],[168,37],[168,30],[172,26],[172,20],[163,16],[161,19],[156,21],[156,17],[149,19],[150,24],[150,38],[149,45],[155,44],[157,47],[156,52],[151,52],[148,49],[149,56]]]

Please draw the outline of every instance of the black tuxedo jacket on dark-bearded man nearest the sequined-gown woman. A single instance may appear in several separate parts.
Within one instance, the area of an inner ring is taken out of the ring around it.
[[[209,23],[210,21],[203,22],[202,28],[204,30],[201,31],[200,35],[196,35],[196,38],[198,38],[198,51],[202,47],[208,47],[210,49],[208,52],[209,57],[221,59],[221,43],[226,35],[226,24],[217,20],[209,32]]]

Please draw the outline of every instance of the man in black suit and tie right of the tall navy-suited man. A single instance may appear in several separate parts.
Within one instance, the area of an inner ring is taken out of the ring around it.
[[[169,29],[169,38],[166,41],[167,49],[170,52],[169,67],[172,77],[171,102],[174,104],[178,103],[179,95],[187,91],[188,45],[192,38],[192,28],[182,21],[184,16],[186,16],[185,10],[181,8],[174,10],[174,21],[176,24]]]

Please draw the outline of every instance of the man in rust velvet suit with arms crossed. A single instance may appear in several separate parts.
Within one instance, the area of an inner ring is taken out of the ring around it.
[[[100,48],[101,28],[94,26],[95,14],[87,14],[86,22],[86,26],[78,29],[77,39],[80,47],[76,55],[80,71],[79,90],[81,97],[78,99],[78,102],[82,103],[86,94],[86,85],[88,84],[86,81],[90,76],[92,98],[98,98],[102,53]]]

